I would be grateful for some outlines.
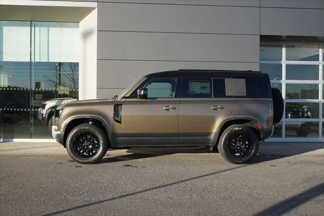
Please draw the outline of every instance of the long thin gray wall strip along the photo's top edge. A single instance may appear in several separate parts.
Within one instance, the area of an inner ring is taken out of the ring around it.
[[[98,0],[98,2],[259,7],[260,0]]]

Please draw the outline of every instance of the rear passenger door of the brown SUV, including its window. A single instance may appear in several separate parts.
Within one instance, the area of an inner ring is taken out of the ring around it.
[[[183,77],[179,145],[215,145],[217,129],[233,110],[228,77]]]

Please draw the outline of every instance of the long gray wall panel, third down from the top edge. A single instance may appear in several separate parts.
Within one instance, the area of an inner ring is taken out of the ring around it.
[[[98,32],[98,59],[259,62],[259,35]]]

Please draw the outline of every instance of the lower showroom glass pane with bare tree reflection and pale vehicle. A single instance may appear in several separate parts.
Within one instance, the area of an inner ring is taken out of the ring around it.
[[[78,63],[33,62],[32,138],[52,138],[51,118],[58,105],[78,98]]]

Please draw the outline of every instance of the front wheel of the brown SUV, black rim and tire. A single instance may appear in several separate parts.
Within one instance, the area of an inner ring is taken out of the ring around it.
[[[66,139],[67,153],[73,160],[82,164],[97,163],[105,156],[107,149],[107,136],[92,124],[76,126]]]

